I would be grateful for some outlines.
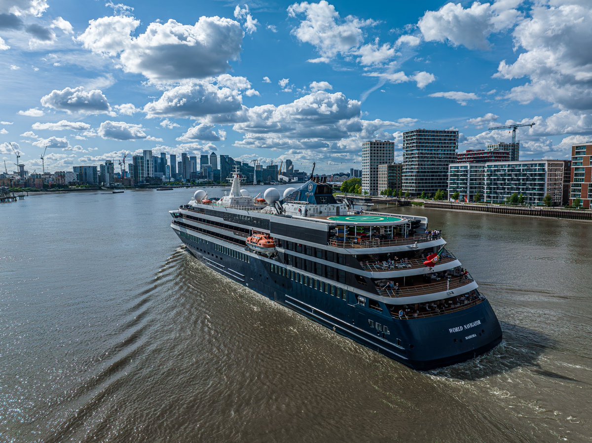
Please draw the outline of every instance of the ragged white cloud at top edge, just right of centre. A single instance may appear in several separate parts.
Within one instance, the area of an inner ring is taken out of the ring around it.
[[[304,15],[304,20],[292,30],[292,34],[299,41],[316,47],[321,56],[327,59],[358,48],[363,42],[362,28],[375,24],[372,20],[360,20],[352,15],[342,20],[333,5],[326,0],[316,4],[295,3],[288,7],[288,15]]]

